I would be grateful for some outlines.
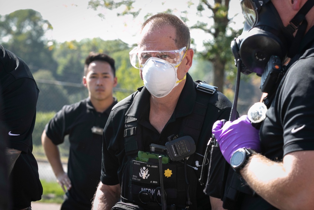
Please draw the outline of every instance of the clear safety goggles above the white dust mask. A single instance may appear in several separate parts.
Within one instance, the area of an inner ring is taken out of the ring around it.
[[[163,59],[178,67],[187,54],[187,47],[176,50],[138,50],[138,47],[130,51],[131,64],[137,69],[143,69],[146,61],[151,57]]]

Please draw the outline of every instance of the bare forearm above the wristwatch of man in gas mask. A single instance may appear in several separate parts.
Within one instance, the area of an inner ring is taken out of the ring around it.
[[[254,155],[241,175],[258,195],[279,209],[308,209],[313,205],[310,199],[313,190],[309,186],[312,181],[307,178],[312,176],[302,174],[294,156],[285,156],[284,162],[273,162],[260,154]]]

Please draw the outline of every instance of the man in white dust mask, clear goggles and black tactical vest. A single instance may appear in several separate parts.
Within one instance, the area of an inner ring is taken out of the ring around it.
[[[119,198],[113,209],[219,209],[221,201],[206,196],[198,179],[212,125],[229,118],[232,104],[187,73],[194,52],[178,17],[156,14],[139,36],[130,60],[145,86],[111,111],[93,209],[111,209]]]

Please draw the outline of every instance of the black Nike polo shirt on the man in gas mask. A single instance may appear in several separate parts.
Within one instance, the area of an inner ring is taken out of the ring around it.
[[[260,128],[261,153],[273,161],[314,150],[314,27],[306,33]],[[293,60],[296,60],[293,62]],[[291,64],[292,63],[292,64]],[[241,209],[277,209],[259,196],[245,196]]]

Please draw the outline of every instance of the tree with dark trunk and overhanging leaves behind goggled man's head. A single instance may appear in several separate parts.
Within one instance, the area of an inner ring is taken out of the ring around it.
[[[132,14],[134,18],[138,16],[141,8],[134,8],[132,0],[90,0],[89,6],[95,10],[98,8],[106,9],[120,9],[117,15]],[[160,2],[163,5],[163,2]],[[187,7],[193,5],[194,2],[187,2]],[[191,11],[182,11],[181,19],[188,21],[189,18],[198,18],[198,21],[191,29],[199,29],[206,32],[209,35],[209,39],[205,39],[203,46],[205,50],[200,53],[200,57],[210,61],[213,64],[214,72],[214,85],[218,87],[220,91],[223,91],[225,86],[225,70],[226,63],[234,63],[234,58],[230,50],[230,43],[234,37],[237,36],[239,31],[236,31],[229,27],[232,22],[228,18],[230,0],[213,0],[211,3],[207,0],[200,0],[194,14]],[[121,12],[122,9],[122,12]],[[173,13],[176,8],[166,9],[164,12]],[[160,11],[161,12],[161,11]],[[152,14],[146,14],[145,18],[148,18]],[[103,17],[103,16],[102,16]],[[211,23],[212,24],[209,24]],[[207,38],[207,37],[206,37]],[[229,66],[228,66],[229,67]],[[234,71],[235,68],[232,69]],[[228,68],[228,71],[230,69]]]

